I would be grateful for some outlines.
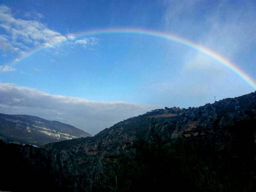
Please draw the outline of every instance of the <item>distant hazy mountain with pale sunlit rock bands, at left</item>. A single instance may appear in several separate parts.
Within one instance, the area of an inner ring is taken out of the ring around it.
[[[42,146],[50,142],[80,137],[91,137],[91,135],[58,121],[49,121],[29,115],[0,113],[0,139],[5,142]]]

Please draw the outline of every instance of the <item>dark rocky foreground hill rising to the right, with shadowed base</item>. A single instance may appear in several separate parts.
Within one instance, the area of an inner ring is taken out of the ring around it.
[[[2,142],[0,190],[255,191],[255,135],[253,92],[42,148]]]

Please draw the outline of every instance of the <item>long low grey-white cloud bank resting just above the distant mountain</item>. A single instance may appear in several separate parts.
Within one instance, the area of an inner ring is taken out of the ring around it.
[[[84,98],[51,95],[13,84],[0,84],[1,113],[27,114],[71,124],[90,134],[163,106],[123,101],[91,101]]]

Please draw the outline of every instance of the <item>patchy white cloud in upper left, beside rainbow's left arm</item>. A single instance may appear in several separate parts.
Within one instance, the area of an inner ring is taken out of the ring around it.
[[[29,13],[30,14],[30,13]],[[29,16],[27,13],[27,16]],[[42,18],[40,13],[33,12],[37,18]],[[1,35],[1,49],[3,51],[17,52],[24,56],[31,46],[49,46],[66,40],[59,32],[49,29],[43,23],[37,20],[17,19],[12,14],[10,8],[0,6],[0,27],[5,30],[5,37]],[[33,49],[33,47],[31,47]]]

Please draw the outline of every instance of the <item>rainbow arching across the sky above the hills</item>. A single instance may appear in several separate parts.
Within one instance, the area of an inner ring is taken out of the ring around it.
[[[249,84],[254,90],[256,89],[256,82],[248,76],[243,70],[238,68],[235,64],[231,63],[229,60],[225,59],[222,57],[220,54],[213,52],[212,50],[209,50],[199,44],[195,44],[191,41],[188,41],[186,39],[180,38],[178,36],[174,36],[172,34],[167,34],[167,33],[161,33],[161,32],[156,32],[156,31],[150,31],[150,30],[145,30],[145,29],[134,29],[134,28],[107,28],[107,29],[99,29],[99,30],[93,30],[93,31],[86,31],[86,32],[81,32],[81,33],[76,33],[74,35],[74,38],[69,38],[63,41],[59,41],[57,43],[50,44],[48,46],[44,47],[39,47],[36,48],[35,50],[29,52],[26,56],[14,60],[10,65],[15,65],[22,60],[36,54],[37,52],[50,47],[54,46],[56,44],[60,44],[66,41],[74,41],[76,39],[80,39],[83,37],[87,36],[96,36],[96,35],[103,35],[103,34],[131,34],[131,35],[140,35],[140,36],[149,36],[149,37],[155,37],[155,38],[160,38],[168,41],[172,41],[174,43],[178,43],[181,45],[184,45],[186,47],[189,47],[191,49],[194,49],[198,52],[201,52],[212,59],[218,61],[220,64],[225,66],[226,68],[230,69],[233,71],[236,75],[238,75],[240,78],[242,78],[247,84]]]

